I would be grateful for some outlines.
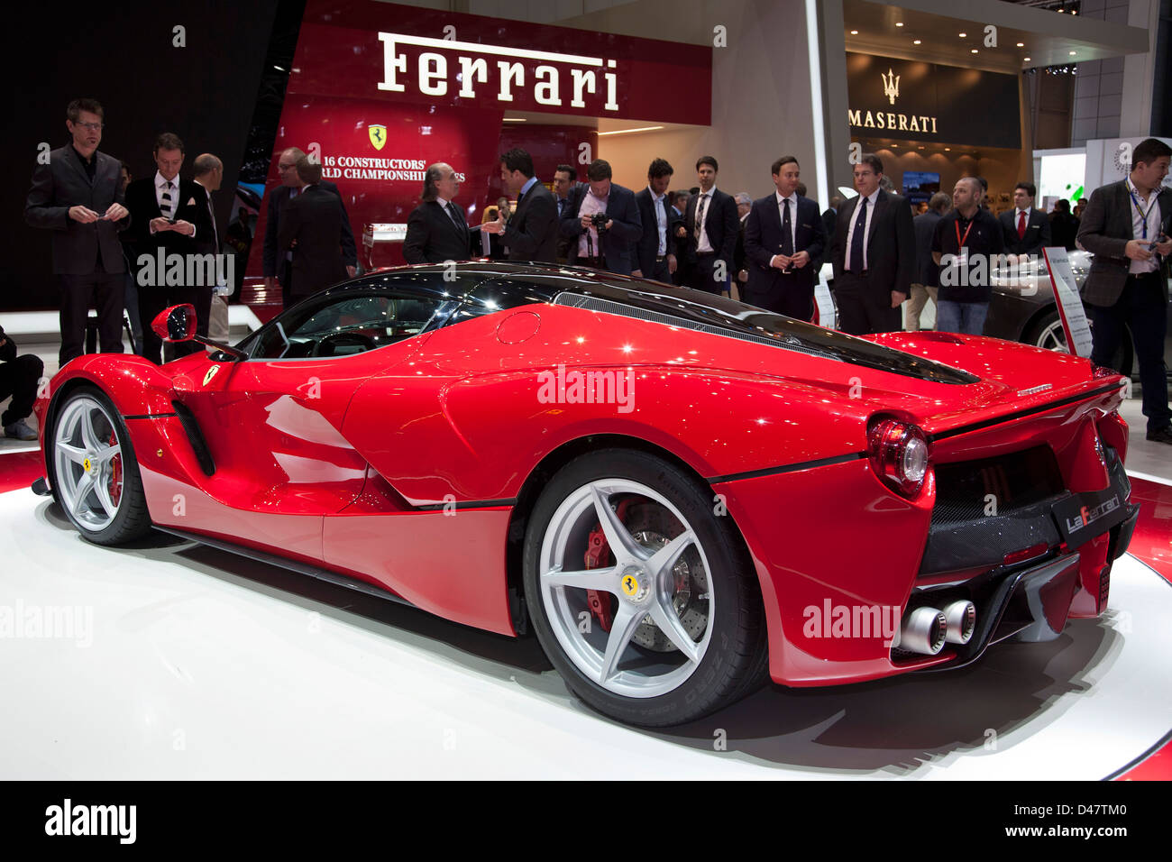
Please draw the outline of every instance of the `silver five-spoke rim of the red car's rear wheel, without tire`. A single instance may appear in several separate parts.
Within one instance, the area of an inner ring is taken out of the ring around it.
[[[639,542],[619,520],[611,498],[634,495],[662,507],[682,528],[666,544]],[[601,525],[613,565],[584,569],[588,534]],[[694,579],[680,584],[677,563]],[[568,564],[567,564],[568,563]],[[602,478],[578,488],[553,513],[538,561],[541,600],[559,645],[586,677],[609,692],[632,698],[667,694],[682,685],[700,665],[711,640],[715,596],[708,561],[691,525],[661,494],[626,478]],[[702,631],[695,640],[681,620],[676,593],[688,590],[702,603]],[[616,610],[609,632],[594,625],[587,590],[611,593]],[[670,653],[640,651],[636,630],[649,618],[675,646]],[[621,666],[626,664],[626,666]]]

